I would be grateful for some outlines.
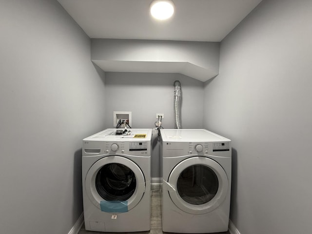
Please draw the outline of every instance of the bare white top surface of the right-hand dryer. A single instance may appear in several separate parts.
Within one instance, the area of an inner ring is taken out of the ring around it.
[[[190,142],[190,141],[231,141],[206,129],[160,129],[163,141]]]

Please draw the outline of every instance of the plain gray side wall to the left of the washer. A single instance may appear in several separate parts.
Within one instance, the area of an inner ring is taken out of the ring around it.
[[[0,233],[66,234],[82,213],[82,138],[104,127],[104,76],[57,1],[0,5]]]

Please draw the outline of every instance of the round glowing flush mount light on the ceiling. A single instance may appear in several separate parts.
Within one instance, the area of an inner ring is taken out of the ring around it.
[[[150,6],[150,12],[157,20],[167,20],[173,16],[175,5],[172,0],[154,0]]]

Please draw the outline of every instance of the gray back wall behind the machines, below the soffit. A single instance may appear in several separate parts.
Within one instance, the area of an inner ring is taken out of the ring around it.
[[[181,74],[128,72],[105,73],[105,128],[113,127],[114,111],[131,111],[133,128],[154,128],[156,113],[164,114],[164,128],[174,128],[175,80],[181,82],[182,127],[202,128],[203,82]],[[152,177],[159,177],[157,142],[152,152]]]

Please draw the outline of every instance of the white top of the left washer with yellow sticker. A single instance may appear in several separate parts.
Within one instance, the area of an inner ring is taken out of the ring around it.
[[[108,128],[101,132],[98,132],[90,137],[86,137],[83,140],[88,141],[149,141],[152,138],[152,129],[127,129],[128,133],[131,131],[130,135],[127,134],[117,134],[117,131],[124,132],[125,129]]]

